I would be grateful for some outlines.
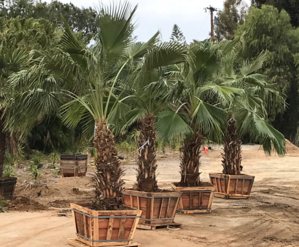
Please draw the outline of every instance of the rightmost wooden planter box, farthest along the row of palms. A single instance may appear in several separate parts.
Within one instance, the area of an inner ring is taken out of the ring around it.
[[[211,183],[215,186],[215,197],[224,199],[247,199],[254,182],[254,176],[225,175],[210,173]]]

